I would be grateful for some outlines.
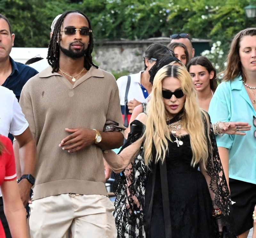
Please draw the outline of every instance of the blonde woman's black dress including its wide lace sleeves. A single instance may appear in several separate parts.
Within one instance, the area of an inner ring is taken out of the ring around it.
[[[122,149],[142,135],[143,124],[137,120],[132,124]],[[169,142],[164,164],[152,163],[148,170],[141,147],[134,163],[116,174],[113,190],[118,238],[217,238],[222,226],[227,227],[226,237],[234,237],[227,181],[212,126],[209,128],[205,118],[204,127],[209,156],[203,173],[197,170],[198,166],[191,166],[190,137],[184,135],[180,147],[176,142]],[[171,139],[175,140],[173,135]],[[212,217],[213,208],[222,211],[217,222]]]

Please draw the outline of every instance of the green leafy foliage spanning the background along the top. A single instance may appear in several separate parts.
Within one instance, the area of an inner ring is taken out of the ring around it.
[[[16,47],[47,47],[55,16],[78,9],[92,21],[96,40],[187,32],[193,38],[221,41],[227,51],[239,30],[256,26],[245,15],[248,4],[249,0],[1,0],[0,10],[12,24]]]

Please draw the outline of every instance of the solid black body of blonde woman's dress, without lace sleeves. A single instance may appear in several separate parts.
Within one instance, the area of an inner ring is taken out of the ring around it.
[[[172,141],[175,137],[171,134]],[[204,175],[198,166],[191,166],[192,150],[189,135],[181,138],[183,145],[169,141],[169,154],[165,157],[172,238],[213,238],[215,224],[212,217],[212,199]],[[165,238],[163,197],[159,163],[156,164],[151,238]],[[148,174],[145,191],[145,211],[148,211],[152,192],[153,172]],[[165,201],[166,202],[166,201]],[[149,229],[149,227],[148,227]],[[147,236],[148,238],[148,236]]]

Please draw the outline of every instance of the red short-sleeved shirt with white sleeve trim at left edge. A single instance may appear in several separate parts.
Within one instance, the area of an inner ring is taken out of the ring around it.
[[[17,179],[15,171],[15,159],[12,149],[12,141],[0,135],[0,141],[4,144],[4,151],[0,155],[0,186],[4,181],[12,181]],[[5,238],[4,228],[0,222],[0,237]]]

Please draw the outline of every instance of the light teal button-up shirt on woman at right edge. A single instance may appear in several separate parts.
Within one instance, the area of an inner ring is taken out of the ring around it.
[[[256,138],[253,136],[256,127],[252,123],[256,112],[241,76],[233,81],[220,83],[212,97],[209,115],[212,123],[230,121],[252,125],[245,136],[217,135],[216,141],[218,147],[229,149],[229,178],[256,184]]]

